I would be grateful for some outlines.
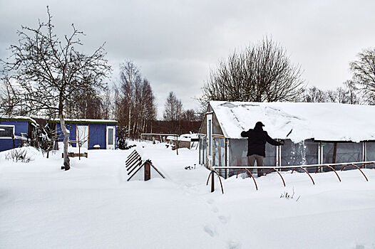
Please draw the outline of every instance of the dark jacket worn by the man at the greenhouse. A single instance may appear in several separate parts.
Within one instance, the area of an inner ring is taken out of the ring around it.
[[[254,129],[249,129],[247,132],[241,132],[241,137],[247,137],[247,157],[257,154],[262,157],[266,156],[266,142],[274,146],[282,145],[275,141],[266,131],[263,130],[262,126],[256,125]]]

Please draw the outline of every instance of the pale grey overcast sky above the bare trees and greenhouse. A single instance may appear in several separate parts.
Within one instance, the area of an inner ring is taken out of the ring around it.
[[[36,27],[51,9],[56,33],[71,23],[86,33],[83,51],[106,41],[113,65],[131,59],[150,80],[158,117],[168,92],[196,108],[194,97],[210,68],[264,36],[301,65],[308,85],[333,89],[351,78],[349,62],[375,47],[375,1],[4,1],[0,0],[0,58],[21,25]]]

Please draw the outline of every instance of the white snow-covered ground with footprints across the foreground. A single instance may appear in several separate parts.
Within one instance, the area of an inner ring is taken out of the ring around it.
[[[375,170],[283,172],[206,186],[198,151],[138,142],[165,179],[126,181],[132,152],[90,150],[61,171],[27,148],[34,161],[0,153],[0,248],[375,248]],[[280,198],[284,192],[294,198]],[[298,198],[299,197],[299,198]],[[298,198],[298,200],[297,200]]]

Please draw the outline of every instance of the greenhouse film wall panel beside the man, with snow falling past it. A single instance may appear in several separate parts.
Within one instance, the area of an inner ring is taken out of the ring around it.
[[[281,165],[299,166],[307,164],[318,164],[318,142],[312,142],[309,139],[294,144],[290,139],[285,140],[281,148]],[[315,167],[307,168],[309,172],[315,170],[317,170]]]

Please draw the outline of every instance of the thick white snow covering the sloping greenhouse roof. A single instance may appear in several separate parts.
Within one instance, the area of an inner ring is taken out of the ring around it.
[[[375,139],[375,106],[306,102],[211,101],[225,137],[241,138],[261,121],[272,138],[360,142]]]

